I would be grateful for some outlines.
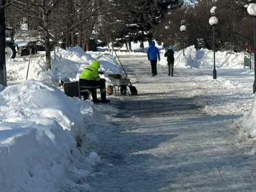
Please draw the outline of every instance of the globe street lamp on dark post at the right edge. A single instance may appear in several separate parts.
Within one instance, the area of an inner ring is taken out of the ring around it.
[[[254,85],[253,87],[253,93],[256,91],[256,4],[255,1],[252,4],[249,4],[247,7],[247,12],[252,15],[252,20],[254,21]]]

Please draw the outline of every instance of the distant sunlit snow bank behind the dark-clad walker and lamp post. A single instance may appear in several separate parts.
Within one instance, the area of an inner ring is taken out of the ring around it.
[[[159,65],[167,66],[165,50],[160,51]],[[244,54],[230,53],[227,51],[215,52],[215,66],[216,69],[240,69],[244,68]],[[183,49],[175,51],[174,54],[174,68],[213,68],[213,51],[208,49],[200,49],[196,51],[194,46],[185,48],[185,56],[183,56]]]

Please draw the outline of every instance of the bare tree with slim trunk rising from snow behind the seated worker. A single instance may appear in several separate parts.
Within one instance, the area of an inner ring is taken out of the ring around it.
[[[87,34],[90,39],[93,24],[86,26],[107,0],[19,0],[13,7],[30,18],[29,24],[36,26],[43,35],[46,50],[46,70],[51,69],[51,49],[64,38],[71,39],[74,46],[74,34]],[[82,26],[82,27],[80,27]],[[80,35],[79,35],[80,37]],[[51,41],[50,41],[51,40]]]

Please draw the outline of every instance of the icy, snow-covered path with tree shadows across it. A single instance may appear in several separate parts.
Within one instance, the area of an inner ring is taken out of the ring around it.
[[[252,143],[232,120],[251,108],[247,69],[217,69],[213,80],[212,69],[174,66],[170,77],[158,67],[151,77],[146,57],[120,59],[139,94],[111,96],[99,106],[106,126],[87,129],[103,173],[85,181],[91,191],[255,191]]]

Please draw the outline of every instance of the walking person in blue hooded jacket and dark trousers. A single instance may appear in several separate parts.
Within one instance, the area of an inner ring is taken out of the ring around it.
[[[151,42],[151,47],[148,49],[148,59],[151,62],[152,76],[157,75],[157,57],[160,62],[160,54],[158,49],[155,47],[155,42]]]

